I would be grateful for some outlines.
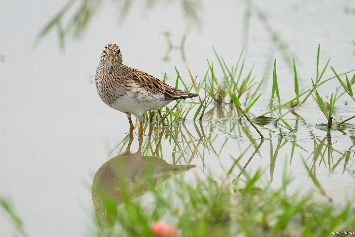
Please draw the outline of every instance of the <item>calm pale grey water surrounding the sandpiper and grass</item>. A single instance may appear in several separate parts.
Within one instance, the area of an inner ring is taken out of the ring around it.
[[[316,77],[319,43],[320,68],[328,58],[337,72],[355,68],[353,1],[255,1],[257,8],[253,8],[249,20],[244,1],[203,3],[203,25],[190,30],[184,52],[176,48],[187,28],[178,5],[158,6],[145,13],[138,7],[124,22],[112,21],[116,12],[105,6],[106,14],[94,18],[82,40],[69,39],[65,52],[61,52],[54,32],[37,47],[33,47],[33,42],[44,23],[62,6],[62,1],[1,2],[0,194],[12,197],[31,236],[85,235],[92,223],[90,188],[94,174],[104,162],[125,149],[122,141],[127,140],[127,118],[99,99],[93,82],[100,53],[107,43],[120,45],[126,65],[158,78],[163,78],[166,72],[168,84],[175,82],[174,65],[187,83],[190,79],[186,66],[202,79],[208,66],[206,59],[218,63],[212,45],[227,65],[232,65],[246,43],[245,68],[250,69],[256,63],[253,70],[256,80],[272,75],[273,60],[277,58],[280,93],[285,99],[294,95],[289,61],[296,60],[301,88],[310,86],[310,78]],[[267,21],[261,20],[260,14]],[[165,31],[171,32],[174,45],[171,52]],[[276,35],[278,40],[273,40]],[[215,73],[222,77],[221,71]],[[323,78],[332,76],[329,68]],[[255,115],[267,109],[271,77],[267,77],[262,88],[261,103],[251,111]],[[334,93],[335,87],[339,87],[335,80],[325,84],[322,95]],[[354,101],[346,95],[336,105],[337,120],[355,113]],[[297,127],[295,136],[282,139],[273,124],[261,125],[264,136],[272,139],[263,142],[247,170],[253,172],[261,167],[266,171],[265,180],[272,179],[272,186],[279,187],[287,159],[289,173],[295,178],[290,191],[305,192],[314,189],[314,185],[302,163],[304,157],[336,203],[353,198],[354,126],[344,128],[343,132],[331,131],[333,152],[328,153],[330,141],[323,140],[327,133],[315,126],[326,121],[315,102],[309,98],[297,113],[303,118],[286,116]],[[233,114],[226,107],[202,123],[187,121],[185,126],[166,128],[163,131],[166,136],[160,140],[159,157],[169,164],[185,165],[198,145],[191,160],[197,167],[185,173],[189,179],[195,174],[203,176],[208,169],[217,178],[222,177],[223,167],[228,170],[233,165],[232,157],[237,158],[247,150],[240,162],[244,165],[260,140],[248,138],[248,133],[254,134],[254,138],[258,136],[248,123],[235,123]],[[153,135],[162,132],[163,128],[152,126]],[[156,144],[159,139],[149,137],[148,130],[147,127],[143,142],[151,139]],[[206,136],[201,140],[203,133]],[[176,136],[176,140],[171,136]],[[176,149],[176,144],[181,144],[181,150]],[[324,158],[315,158],[315,148],[322,145],[322,153],[327,147]],[[132,151],[135,149],[138,149],[137,137],[131,146]],[[350,151],[349,159],[344,156],[347,151]],[[235,169],[234,177],[238,174],[239,170]],[[320,197],[320,200],[325,199]],[[12,227],[1,217],[0,236],[11,233]]]

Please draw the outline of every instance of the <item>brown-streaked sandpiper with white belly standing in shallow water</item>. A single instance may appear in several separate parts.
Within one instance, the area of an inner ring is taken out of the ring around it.
[[[95,83],[103,102],[127,115],[130,134],[134,129],[131,114],[138,118],[139,134],[142,134],[142,116],[145,112],[165,107],[174,99],[198,96],[166,85],[144,71],[122,64],[122,53],[116,44],[105,46],[97,66]]]

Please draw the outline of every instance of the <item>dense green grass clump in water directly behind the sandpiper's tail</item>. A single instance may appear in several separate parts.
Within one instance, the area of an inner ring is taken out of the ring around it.
[[[243,49],[244,50],[244,49]],[[242,50],[242,52],[243,52]],[[236,64],[235,68],[232,66],[232,68],[229,70],[228,67],[226,66],[226,63],[222,57],[222,55],[218,56],[217,52],[214,50],[217,59],[219,61],[220,67],[223,71],[224,77],[222,84],[219,83],[217,77],[214,75],[214,68],[213,68],[213,63],[209,64],[209,68],[206,72],[206,75],[204,76],[202,81],[196,81],[196,79],[193,78],[190,69],[188,68],[189,75],[193,84],[193,87],[195,89],[195,92],[200,95],[200,92],[203,90],[204,93],[201,94],[201,96],[204,94],[204,97],[201,98],[198,97],[199,102],[195,102],[194,99],[192,101],[186,101],[186,99],[181,99],[181,100],[176,100],[175,104],[171,104],[165,108],[165,111],[162,110],[160,111],[157,109],[156,111],[149,111],[143,116],[147,121],[150,122],[161,122],[163,125],[165,125],[165,121],[167,124],[176,124],[179,123],[187,117],[187,114],[191,111],[191,109],[195,106],[198,106],[197,110],[195,111],[195,114],[193,116],[193,120],[197,119],[199,117],[200,120],[203,119],[204,113],[206,108],[214,101],[217,104],[221,104],[224,102],[225,98],[227,95],[229,95],[229,91],[237,91],[238,93],[238,98],[240,98],[244,93],[247,93],[246,96],[246,109],[245,112],[249,111],[249,109],[255,104],[255,102],[260,98],[261,93],[258,93],[260,91],[260,87],[264,81],[264,79],[261,80],[261,82],[258,84],[256,90],[252,93],[252,96],[250,96],[250,92],[252,90],[253,85],[252,84],[254,78],[251,78],[251,73],[252,69],[250,70],[249,74],[247,77],[241,81],[240,86],[238,86],[239,81],[241,79],[242,71],[244,68],[244,62],[239,70],[239,74],[237,75],[237,69],[239,66],[239,62],[242,56],[242,52],[239,56],[238,63]],[[223,62],[223,63],[222,63]],[[185,91],[191,91],[192,87],[188,87],[184,80],[182,80],[180,76],[180,72],[178,69],[175,67],[177,77],[175,80],[175,88],[181,87],[179,86],[180,82],[182,84],[182,87],[180,89],[185,90]],[[226,73],[228,72],[228,74]],[[211,76],[209,75],[209,72],[211,73]],[[166,79],[166,74],[164,75],[163,82],[165,82]],[[188,106],[187,106],[188,105]],[[163,112],[163,113],[161,113]]]

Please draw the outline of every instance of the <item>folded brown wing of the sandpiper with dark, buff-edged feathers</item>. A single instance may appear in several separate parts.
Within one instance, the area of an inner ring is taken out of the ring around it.
[[[128,75],[131,77],[133,81],[135,81],[138,85],[142,86],[145,90],[154,93],[154,94],[162,94],[164,95],[166,100],[172,99],[186,99],[198,96],[197,94],[181,91],[172,86],[165,84],[159,79],[155,78],[148,73],[131,68],[128,72]]]

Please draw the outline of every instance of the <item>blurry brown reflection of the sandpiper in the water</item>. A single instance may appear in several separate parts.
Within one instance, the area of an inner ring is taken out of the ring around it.
[[[162,158],[142,155],[142,136],[139,147],[130,151],[133,135],[130,135],[124,153],[105,162],[95,173],[92,184],[92,200],[98,218],[114,225],[117,206],[132,200],[152,187],[163,183],[174,174],[185,172],[196,165],[171,165]]]

